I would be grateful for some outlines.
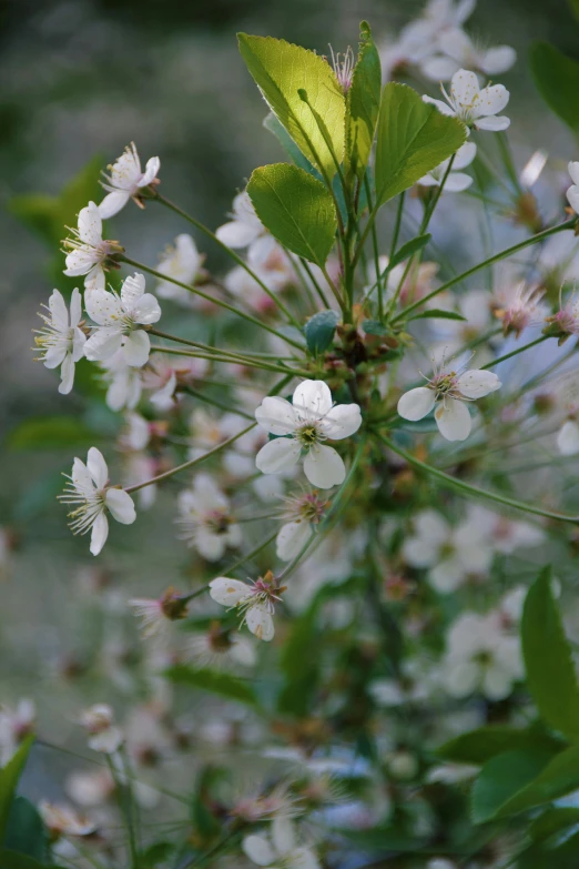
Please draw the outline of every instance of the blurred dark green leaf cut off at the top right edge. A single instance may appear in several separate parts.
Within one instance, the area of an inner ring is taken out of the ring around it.
[[[573,132],[579,131],[579,63],[549,42],[535,42],[530,69],[542,99]]]

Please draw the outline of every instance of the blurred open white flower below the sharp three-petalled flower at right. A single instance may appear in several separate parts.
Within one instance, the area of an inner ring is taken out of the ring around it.
[[[468,576],[490,568],[492,538],[476,516],[453,527],[437,511],[424,509],[413,525],[414,535],[406,537],[403,556],[412,567],[429,568],[428,582],[437,592],[454,592]]]

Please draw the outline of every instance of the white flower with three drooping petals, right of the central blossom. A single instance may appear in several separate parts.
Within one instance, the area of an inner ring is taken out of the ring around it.
[[[430,413],[435,404],[438,431],[447,441],[466,441],[471,420],[465,402],[482,398],[500,388],[501,383],[490,371],[471,370],[435,371],[428,386],[418,386],[405,393],[398,402],[398,413],[404,420],[416,422]]]

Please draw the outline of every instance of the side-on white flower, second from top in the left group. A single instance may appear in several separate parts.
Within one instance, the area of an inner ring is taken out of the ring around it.
[[[79,212],[79,222],[72,232],[72,239],[65,239],[63,244],[67,253],[64,274],[78,277],[83,274],[87,291],[104,290],[104,272],[108,266],[116,267],[114,255],[122,253],[119,242],[105,241],[102,238],[102,219],[94,202],[89,202]]]

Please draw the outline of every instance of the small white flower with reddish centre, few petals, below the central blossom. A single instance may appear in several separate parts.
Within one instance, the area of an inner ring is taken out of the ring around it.
[[[230,579],[227,576],[217,576],[210,583],[213,600],[230,609],[238,609],[243,614],[242,625],[245,623],[257,639],[266,641],[273,639],[275,602],[281,600],[284,590],[285,588],[277,586],[271,570],[253,585]]]

